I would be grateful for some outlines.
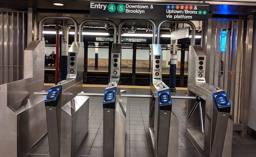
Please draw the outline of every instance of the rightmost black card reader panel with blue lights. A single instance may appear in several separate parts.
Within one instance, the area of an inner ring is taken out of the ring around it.
[[[220,91],[218,93],[213,94],[213,100],[215,102],[215,106],[219,112],[227,112],[229,113],[231,110],[231,104],[226,96],[224,91]]]

